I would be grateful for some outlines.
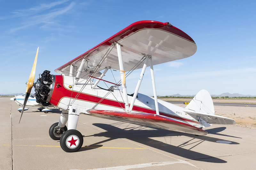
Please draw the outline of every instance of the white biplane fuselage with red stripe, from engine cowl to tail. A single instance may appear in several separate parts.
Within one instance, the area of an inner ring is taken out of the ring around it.
[[[109,89],[97,86],[92,89],[94,83],[90,80],[79,79],[77,84],[74,82],[72,76],[52,75],[52,82],[48,83],[50,95],[45,96],[44,101],[63,110],[68,110],[70,105],[76,106],[81,113],[87,113],[88,109],[124,111],[123,94],[118,86]],[[132,101],[132,95],[128,95],[128,101]],[[183,107],[162,100],[158,100],[158,107],[162,116],[202,127],[196,117],[182,111]],[[132,111],[156,114],[154,98],[138,93]]]

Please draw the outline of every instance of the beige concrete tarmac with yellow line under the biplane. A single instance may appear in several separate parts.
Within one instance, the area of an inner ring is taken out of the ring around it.
[[[60,111],[30,107],[19,124],[18,106],[0,98],[0,169],[255,169],[256,130],[212,125],[206,136],[153,129],[80,115],[79,152],[64,152],[49,137]]]

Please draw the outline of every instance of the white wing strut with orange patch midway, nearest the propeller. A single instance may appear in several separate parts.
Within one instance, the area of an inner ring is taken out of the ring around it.
[[[122,88],[123,88],[123,94],[124,94],[124,106],[125,106],[125,111],[128,112],[129,111],[129,102],[128,102],[126,83],[125,83],[125,71],[124,71],[124,64],[123,64],[122,51],[121,51],[120,44],[116,43],[116,49],[117,49],[118,62],[119,62],[119,68],[120,68],[120,76],[121,76],[121,80],[122,80]]]

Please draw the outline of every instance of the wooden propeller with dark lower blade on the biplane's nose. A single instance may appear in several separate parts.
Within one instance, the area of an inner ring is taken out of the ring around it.
[[[28,97],[30,95],[31,89],[32,89],[33,84],[34,84],[35,74],[36,74],[36,61],[37,61],[38,49],[39,49],[39,47],[37,48],[34,64],[33,64],[31,73],[29,75],[28,85],[27,85],[26,94],[25,94],[25,98],[24,98],[23,108],[22,108],[22,111],[21,111],[21,114],[20,114],[20,119],[22,117],[23,111],[24,111],[25,106],[26,106],[27,101],[28,101]],[[20,121],[19,121],[19,123],[20,123]]]

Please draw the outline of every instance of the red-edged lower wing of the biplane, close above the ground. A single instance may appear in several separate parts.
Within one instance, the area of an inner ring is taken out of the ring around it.
[[[171,131],[180,131],[185,133],[191,133],[195,135],[206,135],[207,132],[192,126],[190,124],[181,122],[170,117],[165,117],[150,113],[134,113],[134,112],[122,112],[112,110],[87,110],[92,116],[101,117],[105,119],[117,120],[122,122],[128,122],[133,124],[139,124],[142,126],[149,126],[154,128],[166,129]]]

